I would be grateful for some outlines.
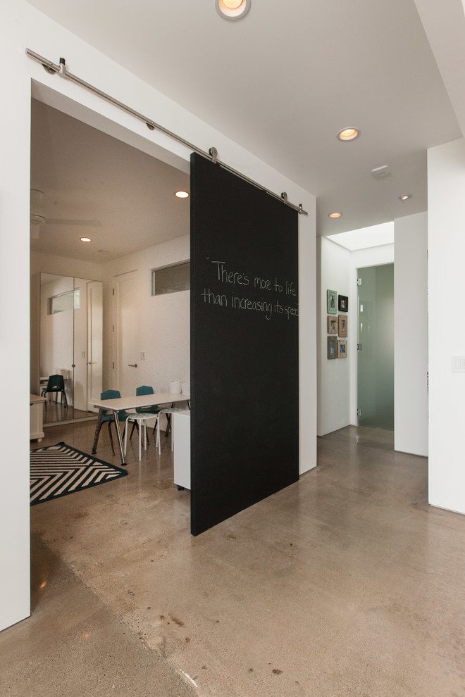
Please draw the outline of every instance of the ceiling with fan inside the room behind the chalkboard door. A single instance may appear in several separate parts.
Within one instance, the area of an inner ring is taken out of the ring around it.
[[[189,199],[175,191],[189,187],[185,172],[32,100],[31,188],[46,218],[32,251],[106,262],[188,234]]]

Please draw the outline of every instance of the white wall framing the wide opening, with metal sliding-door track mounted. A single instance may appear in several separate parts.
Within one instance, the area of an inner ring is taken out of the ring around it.
[[[300,468],[316,465],[316,308],[315,308],[315,199],[297,184],[225,137],[211,125],[180,108],[138,77],[92,49],[75,35],[52,22],[23,0],[0,4],[3,65],[14,65],[2,75],[0,111],[0,283],[4,297],[14,287],[14,303],[1,303],[1,326],[8,327],[0,342],[2,387],[9,396],[1,420],[2,487],[0,494],[0,555],[7,573],[0,577],[0,629],[29,614],[29,408],[25,401],[29,376],[29,186],[30,98],[105,129],[125,142],[139,144],[155,156],[188,169],[190,153],[116,106],[99,99],[77,84],[47,75],[42,65],[25,55],[29,47],[58,62],[65,55],[71,72],[97,84],[107,94],[128,103],[208,151],[216,146],[221,160],[244,172],[272,191],[287,191],[290,201],[302,202],[309,216],[299,216],[299,346],[300,346]],[[31,83],[32,81],[32,83]],[[218,125],[220,126],[220,125]],[[6,234],[8,233],[8,234]],[[77,274],[93,277],[93,274]],[[19,430],[18,430],[19,429]],[[15,433],[14,439],[6,434]]]

